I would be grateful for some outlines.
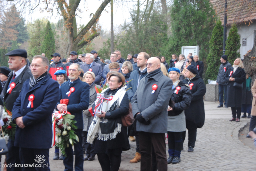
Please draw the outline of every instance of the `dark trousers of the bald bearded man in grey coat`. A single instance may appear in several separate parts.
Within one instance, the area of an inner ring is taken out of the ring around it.
[[[152,170],[152,146],[156,155],[158,171],[167,170],[167,158],[165,151],[165,134],[139,132],[140,152],[141,152],[141,171]]]

